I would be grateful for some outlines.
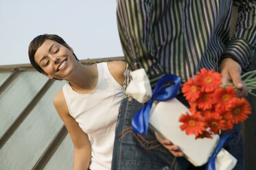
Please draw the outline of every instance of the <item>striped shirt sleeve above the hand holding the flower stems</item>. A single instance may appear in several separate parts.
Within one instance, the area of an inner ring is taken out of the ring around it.
[[[222,53],[224,58],[232,58],[246,69],[251,63],[256,45],[256,3],[255,1],[233,1],[237,6],[235,34]]]

